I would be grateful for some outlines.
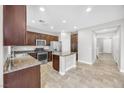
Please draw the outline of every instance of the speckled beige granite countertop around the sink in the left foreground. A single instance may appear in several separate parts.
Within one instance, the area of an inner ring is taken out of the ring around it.
[[[11,69],[6,69],[6,64],[4,65],[4,74],[41,64],[41,62],[31,57],[30,55],[19,56],[19,57],[14,58],[11,61],[13,62],[13,66],[11,67]]]

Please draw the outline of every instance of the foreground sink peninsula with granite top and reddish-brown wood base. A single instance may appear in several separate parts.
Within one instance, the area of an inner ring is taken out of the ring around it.
[[[38,88],[40,86],[40,62],[30,55],[15,57],[4,65],[5,88]],[[11,63],[11,67],[8,67]]]

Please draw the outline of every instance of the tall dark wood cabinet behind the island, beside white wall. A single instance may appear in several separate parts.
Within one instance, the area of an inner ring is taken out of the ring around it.
[[[76,52],[76,59],[78,60],[78,34],[71,35],[71,52]]]

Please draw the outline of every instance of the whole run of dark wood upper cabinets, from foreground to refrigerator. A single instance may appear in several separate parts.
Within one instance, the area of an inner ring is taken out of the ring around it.
[[[46,40],[46,45],[51,41],[58,41],[58,36],[27,31],[26,6],[5,5],[3,7],[3,38],[4,45],[36,45],[36,39]]]

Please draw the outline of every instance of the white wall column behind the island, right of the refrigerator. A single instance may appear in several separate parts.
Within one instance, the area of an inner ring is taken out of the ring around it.
[[[62,32],[59,36],[59,41],[62,43],[62,52],[71,52],[71,33]]]

